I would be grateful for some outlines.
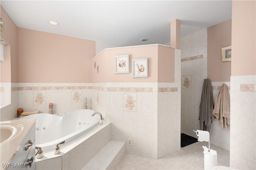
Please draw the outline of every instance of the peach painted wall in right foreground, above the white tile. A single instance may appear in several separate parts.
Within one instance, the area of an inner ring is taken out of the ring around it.
[[[242,10],[242,11],[241,11]],[[256,1],[232,1],[231,75],[256,75]]]

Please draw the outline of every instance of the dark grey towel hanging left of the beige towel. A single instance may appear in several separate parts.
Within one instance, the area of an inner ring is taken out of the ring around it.
[[[213,108],[214,104],[211,81],[210,79],[204,79],[199,109],[200,130],[210,132],[210,126],[212,124],[212,120],[214,119],[214,115],[212,115]]]

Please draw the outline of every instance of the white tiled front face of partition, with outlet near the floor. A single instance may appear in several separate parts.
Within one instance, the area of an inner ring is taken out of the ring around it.
[[[157,83],[108,83],[107,86],[111,139],[126,142],[126,153],[152,158]],[[132,145],[128,145],[128,138],[132,138]]]

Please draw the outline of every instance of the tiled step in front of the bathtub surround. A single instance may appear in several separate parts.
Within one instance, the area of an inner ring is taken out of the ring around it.
[[[125,142],[110,140],[82,170],[116,169],[125,154]]]

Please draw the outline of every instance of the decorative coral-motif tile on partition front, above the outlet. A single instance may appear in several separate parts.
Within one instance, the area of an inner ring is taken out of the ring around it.
[[[137,111],[137,93],[124,93],[124,111]]]

